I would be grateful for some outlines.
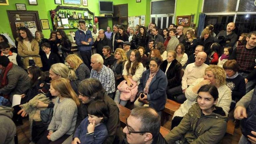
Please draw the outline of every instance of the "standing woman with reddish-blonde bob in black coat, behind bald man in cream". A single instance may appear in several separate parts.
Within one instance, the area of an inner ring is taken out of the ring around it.
[[[209,56],[212,43],[214,43],[214,39],[210,35],[210,30],[204,29],[202,31],[201,37],[197,39],[197,45],[204,46],[205,52]]]

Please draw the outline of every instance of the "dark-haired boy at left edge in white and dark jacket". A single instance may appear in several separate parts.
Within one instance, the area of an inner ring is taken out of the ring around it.
[[[10,51],[10,45],[8,42],[0,42],[0,50],[2,51],[1,56],[7,56],[10,62],[23,68],[20,56],[17,53]]]

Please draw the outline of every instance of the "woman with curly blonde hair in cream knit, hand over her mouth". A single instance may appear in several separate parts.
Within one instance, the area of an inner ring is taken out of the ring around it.
[[[186,89],[185,96],[187,100],[181,104],[177,111],[175,111],[171,129],[179,125],[184,115],[188,113],[189,108],[191,108],[191,106],[196,103],[198,90],[206,84],[216,86],[219,93],[216,106],[222,107],[225,114],[228,115],[232,99],[231,90],[226,86],[226,72],[222,67],[217,65],[210,65],[205,69],[204,78],[196,79],[195,82]]]

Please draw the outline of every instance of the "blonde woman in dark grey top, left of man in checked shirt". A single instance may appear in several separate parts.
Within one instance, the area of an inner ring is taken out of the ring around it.
[[[90,77],[91,72],[89,68],[83,63],[79,56],[70,54],[66,57],[66,62],[75,71],[77,76],[75,83],[77,86],[82,80]]]

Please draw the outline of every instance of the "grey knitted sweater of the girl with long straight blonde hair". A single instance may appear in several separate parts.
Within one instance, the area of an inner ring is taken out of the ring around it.
[[[47,130],[54,131],[51,134],[51,141],[58,140],[64,134],[71,135],[75,129],[77,120],[77,105],[71,98],[56,98],[53,108],[53,116]]]

